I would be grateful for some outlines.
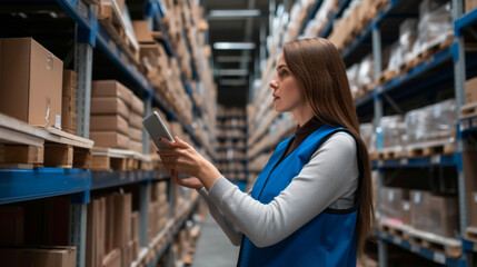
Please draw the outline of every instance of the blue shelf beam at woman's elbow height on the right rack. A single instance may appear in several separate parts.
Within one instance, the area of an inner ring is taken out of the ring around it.
[[[437,155],[423,158],[401,158],[401,159],[379,159],[372,160],[371,167],[379,169],[386,168],[420,168],[420,167],[450,167],[456,166],[461,169],[461,155]]]

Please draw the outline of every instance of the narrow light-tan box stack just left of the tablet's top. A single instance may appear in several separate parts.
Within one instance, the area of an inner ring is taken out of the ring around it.
[[[129,112],[129,149],[142,152],[142,118],[145,117],[145,103],[132,95],[131,110]]]

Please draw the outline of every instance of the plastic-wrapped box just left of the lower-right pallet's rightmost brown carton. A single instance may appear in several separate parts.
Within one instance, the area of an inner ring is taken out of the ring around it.
[[[416,229],[429,231],[429,198],[430,194],[428,191],[410,191],[410,224]]]

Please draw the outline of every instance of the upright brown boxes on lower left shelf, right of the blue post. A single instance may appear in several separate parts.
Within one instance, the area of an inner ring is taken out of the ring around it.
[[[131,194],[92,199],[87,217],[87,267],[126,267],[138,256],[138,216],[132,216]]]

